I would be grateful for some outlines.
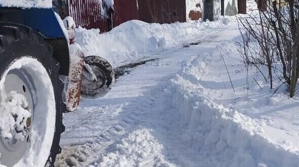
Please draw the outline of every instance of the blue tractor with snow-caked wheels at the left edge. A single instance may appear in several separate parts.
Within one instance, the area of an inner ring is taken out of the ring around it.
[[[0,0],[0,166],[54,166],[62,114],[114,84],[111,65],[84,55],[76,25],[52,0]]]

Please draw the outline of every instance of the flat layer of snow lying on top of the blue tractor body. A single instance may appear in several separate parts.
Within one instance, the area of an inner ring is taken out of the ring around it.
[[[52,0],[0,0],[1,7],[52,8]]]

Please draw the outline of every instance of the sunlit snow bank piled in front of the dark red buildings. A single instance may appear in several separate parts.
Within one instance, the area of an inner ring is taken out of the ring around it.
[[[128,21],[108,33],[99,34],[98,29],[77,29],[77,42],[85,55],[99,55],[114,67],[124,61],[134,61],[144,57],[144,53],[191,43],[199,39],[200,32],[220,28],[226,19],[215,22],[193,22],[173,24],[147,24]]]

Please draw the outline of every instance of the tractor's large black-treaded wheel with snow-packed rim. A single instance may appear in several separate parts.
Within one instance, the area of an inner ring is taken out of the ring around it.
[[[25,26],[0,22],[0,96],[5,99],[16,92],[26,99],[29,107],[24,109],[31,113],[28,127],[24,127],[26,133],[22,129],[25,140],[14,138],[19,129],[11,129],[11,139],[2,137],[4,127],[0,125],[2,165],[54,166],[56,155],[61,152],[59,141],[64,131],[65,104],[61,97],[59,64],[52,54],[52,47],[44,42],[43,35]],[[0,104],[3,102],[0,99]],[[3,114],[9,114],[8,110],[0,110],[0,117]]]

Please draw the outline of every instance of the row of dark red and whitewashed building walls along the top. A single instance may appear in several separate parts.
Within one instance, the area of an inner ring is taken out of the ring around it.
[[[246,13],[246,0],[53,0],[54,9],[62,18],[73,17],[77,26],[99,28],[107,32],[128,21],[148,23],[214,20],[217,15]],[[258,7],[267,8],[267,0],[257,0]],[[236,7],[237,6],[237,7]]]

